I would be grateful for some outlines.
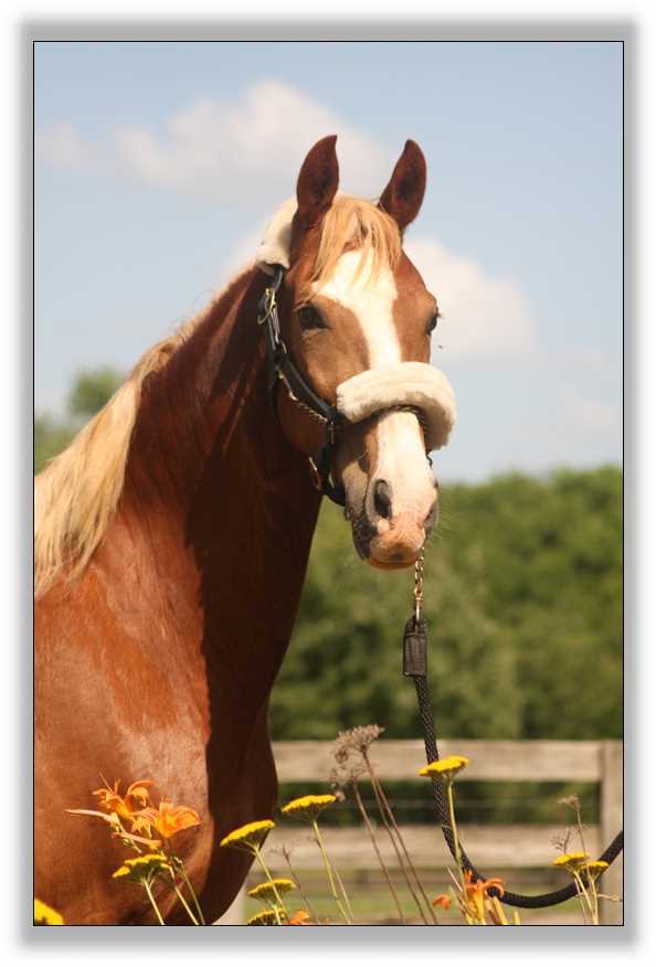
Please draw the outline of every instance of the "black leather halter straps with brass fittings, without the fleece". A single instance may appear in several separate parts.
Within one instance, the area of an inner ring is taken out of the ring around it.
[[[330,465],[335,451],[337,428],[343,423],[339,411],[318,396],[307,380],[298,371],[281,333],[278,318],[277,293],[285,277],[282,265],[274,267],[274,277],[260,300],[257,323],[264,326],[266,361],[268,369],[268,387],[273,405],[277,412],[278,380],[282,380],[289,399],[314,419],[321,423],[325,432],[324,444],[315,457],[309,457],[313,482],[320,493],[326,495],[335,503],[343,507],[346,493],[343,487],[330,478]]]

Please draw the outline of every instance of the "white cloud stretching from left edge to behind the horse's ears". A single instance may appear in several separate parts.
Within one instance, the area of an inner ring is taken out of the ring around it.
[[[253,85],[236,102],[197,100],[160,129],[119,127],[99,167],[218,202],[282,201],[293,193],[309,148],[331,134],[338,136],[342,189],[380,194],[394,157],[330,108],[278,81]],[[53,164],[92,163],[93,152],[67,123],[43,131],[40,142],[41,156]]]

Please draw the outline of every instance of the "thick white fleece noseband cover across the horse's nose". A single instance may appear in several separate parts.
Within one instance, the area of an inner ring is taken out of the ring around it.
[[[455,396],[451,383],[435,366],[393,363],[364,370],[337,387],[337,410],[350,423],[360,423],[394,406],[421,410],[426,450],[446,445],[456,421]]]

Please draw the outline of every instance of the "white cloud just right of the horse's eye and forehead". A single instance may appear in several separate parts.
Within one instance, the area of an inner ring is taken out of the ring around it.
[[[405,251],[437,299],[443,318],[434,342],[449,357],[518,358],[536,351],[537,321],[512,279],[488,275],[432,238],[409,240]]]

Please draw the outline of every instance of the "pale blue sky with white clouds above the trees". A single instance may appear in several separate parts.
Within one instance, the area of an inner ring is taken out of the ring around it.
[[[38,411],[252,261],[318,138],[368,198],[413,138],[405,248],[458,406],[437,476],[621,461],[621,44],[40,42],[34,65]]]

